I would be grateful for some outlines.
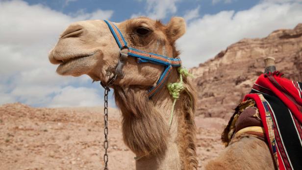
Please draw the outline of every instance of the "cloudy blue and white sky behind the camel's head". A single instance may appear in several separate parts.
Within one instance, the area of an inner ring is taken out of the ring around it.
[[[76,21],[147,16],[168,23],[183,17],[187,31],[176,46],[191,68],[243,38],[294,28],[302,23],[301,9],[302,0],[0,0],[0,104],[103,104],[98,82],[87,75],[60,76],[48,60],[59,34]]]

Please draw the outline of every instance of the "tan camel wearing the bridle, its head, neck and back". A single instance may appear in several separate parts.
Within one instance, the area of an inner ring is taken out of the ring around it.
[[[162,24],[140,17],[114,24],[129,47],[170,58],[179,57],[175,42],[185,33],[183,18],[173,17],[168,24]],[[122,52],[124,50],[127,49]],[[49,54],[50,62],[59,64],[58,74],[87,74],[94,81],[104,83],[114,75],[119,57],[119,46],[108,25],[101,20],[70,24]],[[122,112],[124,142],[140,158],[136,160],[137,170],[197,170],[194,86],[190,78],[183,77],[186,91],[176,100],[175,117],[169,126],[174,100],[167,88],[148,97],[150,87],[156,85],[163,70],[163,66],[138,63],[136,58],[128,56],[123,76],[110,86]],[[173,68],[165,85],[178,81],[179,73]],[[233,139],[205,169],[274,169],[274,163],[264,141],[242,135]]]

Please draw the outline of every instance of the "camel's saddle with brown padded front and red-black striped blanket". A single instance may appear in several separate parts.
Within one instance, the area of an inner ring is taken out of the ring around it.
[[[222,141],[248,135],[267,142],[278,170],[302,170],[302,83],[261,74],[235,108]]]

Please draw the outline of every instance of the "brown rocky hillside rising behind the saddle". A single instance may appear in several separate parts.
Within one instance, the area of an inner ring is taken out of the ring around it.
[[[302,24],[276,30],[262,39],[243,39],[192,68],[199,92],[197,114],[228,119],[264,71],[266,56],[276,58],[277,70],[285,77],[302,81]]]

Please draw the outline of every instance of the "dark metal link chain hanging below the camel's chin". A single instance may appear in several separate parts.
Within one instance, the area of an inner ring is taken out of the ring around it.
[[[109,87],[113,84],[115,81],[117,75],[114,75],[113,78],[109,81],[108,85],[104,86],[104,84],[101,82],[101,86],[105,89],[104,92],[104,170],[108,170],[108,154],[107,154],[107,149],[109,147],[109,142],[108,142],[108,93],[110,92]]]

